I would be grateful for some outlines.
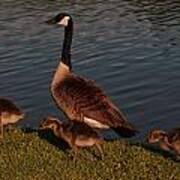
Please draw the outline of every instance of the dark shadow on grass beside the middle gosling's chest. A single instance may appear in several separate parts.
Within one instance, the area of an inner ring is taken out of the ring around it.
[[[62,139],[57,138],[51,130],[38,130],[32,128],[23,128],[24,133],[38,133],[41,139],[45,139],[48,143],[56,146],[58,149],[66,152],[70,149],[69,145]]]

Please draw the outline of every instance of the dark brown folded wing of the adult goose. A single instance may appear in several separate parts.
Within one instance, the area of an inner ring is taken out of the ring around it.
[[[67,99],[70,105],[84,118],[91,118],[113,127],[121,126],[126,121],[109,97],[93,81],[80,77],[69,78],[64,82],[63,88],[69,97]]]

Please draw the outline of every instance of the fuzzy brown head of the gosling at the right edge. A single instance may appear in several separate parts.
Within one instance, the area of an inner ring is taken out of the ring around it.
[[[167,136],[166,132],[162,130],[152,130],[148,135],[148,143],[154,144],[158,143],[159,141],[163,140]]]

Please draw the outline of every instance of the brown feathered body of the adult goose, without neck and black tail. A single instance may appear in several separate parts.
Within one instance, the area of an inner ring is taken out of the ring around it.
[[[86,118],[94,119],[102,124],[102,128],[128,124],[103,90],[93,81],[73,73],[52,88],[52,95],[71,120],[86,122]]]

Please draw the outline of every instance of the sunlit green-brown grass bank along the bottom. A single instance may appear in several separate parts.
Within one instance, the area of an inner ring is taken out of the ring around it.
[[[92,147],[73,162],[70,149],[50,132],[12,129],[0,143],[0,179],[180,180],[180,163],[140,144],[116,140],[103,150],[104,160]]]

